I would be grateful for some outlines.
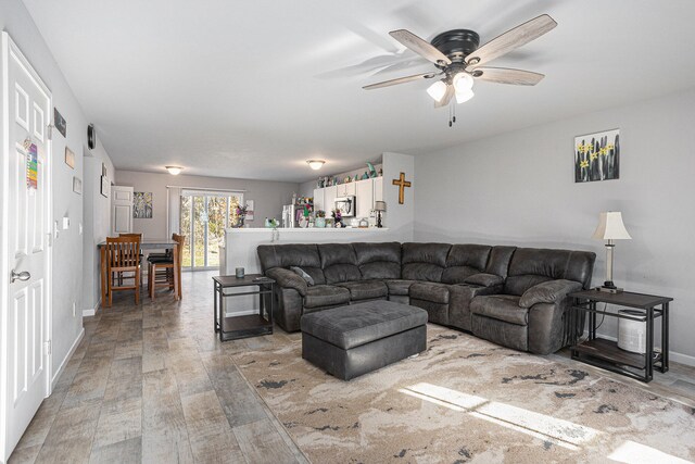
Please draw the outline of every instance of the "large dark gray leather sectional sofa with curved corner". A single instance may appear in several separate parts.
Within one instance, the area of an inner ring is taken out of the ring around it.
[[[484,244],[318,243],[257,249],[275,279],[275,319],[369,300],[412,304],[429,322],[521,351],[555,352],[570,330],[568,293],[586,289],[595,253]],[[299,271],[299,269],[301,271]],[[301,273],[305,273],[304,276]]]

